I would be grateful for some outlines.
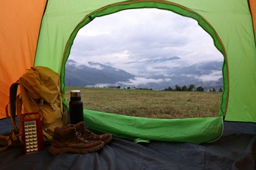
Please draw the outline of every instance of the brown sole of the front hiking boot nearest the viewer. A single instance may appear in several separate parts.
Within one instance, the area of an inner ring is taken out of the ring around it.
[[[49,148],[49,152],[52,155],[56,155],[56,154],[65,154],[65,153],[74,153],[74,154],[87,154],[87,153],[91,153],[91,152],[96,152],[97,150],[100,150],[101,148],[103,148],[104,143],[98,145],[98,146],[94,146],[92,148],[55,148],[54,146],[50,146]]]

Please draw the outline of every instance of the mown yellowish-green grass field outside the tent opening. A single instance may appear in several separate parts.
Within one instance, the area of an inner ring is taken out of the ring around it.
[[[221,103],[220,92],[67,87],[68,102],[70,90],[81,90],[84,109],[146,118],[216,117]]]

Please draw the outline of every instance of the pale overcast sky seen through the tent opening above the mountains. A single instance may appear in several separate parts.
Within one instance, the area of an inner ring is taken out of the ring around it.
[[[95,18],[77,33],[69,59],[85,65],[98,62],[139,75],[142,67],[148,73],[158,71],[155,64],[143,66],[142,61],[173,56],[181,59],[158,66],[223,61],[213,39],[196,20],[159,9],[123,10]]]

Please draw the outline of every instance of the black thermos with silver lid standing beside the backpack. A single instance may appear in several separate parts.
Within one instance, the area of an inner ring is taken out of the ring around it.
[[[70,91],[70,124],[83,121],[83,102],[80,90]]]

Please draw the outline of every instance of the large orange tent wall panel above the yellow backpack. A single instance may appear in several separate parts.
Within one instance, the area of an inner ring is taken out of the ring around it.
[[[0,118],[5,117],[9,87],[33,66],[46,0],[1,1]]]

